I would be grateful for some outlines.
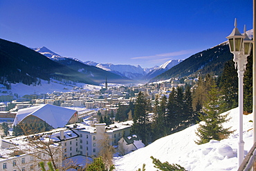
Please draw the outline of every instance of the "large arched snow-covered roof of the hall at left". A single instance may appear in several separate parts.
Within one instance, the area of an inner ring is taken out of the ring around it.
[[[46,121],[53,128],[62,128],[71,119],[73,114],[77,112],[76,110],[71,110],[67,108],[62,108],[57,105],[37,105],[31,108],[24,108],[17,112],[15,117],[14,125],[26,119],[31,115]]]

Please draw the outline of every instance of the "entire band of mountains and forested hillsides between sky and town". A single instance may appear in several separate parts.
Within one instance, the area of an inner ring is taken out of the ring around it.
[[[251,30],[247,33],[251,36]],[[232,59],[227,42],[193,54],[185,60],[172,59],[161,66],[138,66],[80,61],[62,57],[46,47],[27,48],[19,43],[0,39],[1,84],[24,83],[39,86],[42,80],[64,83],[86,83],[99,86],[108,83],[125,85],[151,83],[198,75],[220,75],[224,63]]]

